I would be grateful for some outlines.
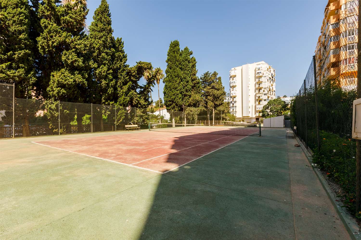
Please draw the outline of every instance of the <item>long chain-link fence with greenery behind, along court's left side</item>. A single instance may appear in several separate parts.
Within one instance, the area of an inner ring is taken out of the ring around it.
[[[119,131],[129,124],[148,129],[149,121],[171,123],[173,117],[177,124],[208,125],[213,124],[209,112],[208,118],[208,110],[187,107],[184,112],[162,111],[160,116],[151,107],[21,99],[13,97],[13,85],[0,84],[0,138]],[[222,123],[221,115],[214,119],[214,124]]]

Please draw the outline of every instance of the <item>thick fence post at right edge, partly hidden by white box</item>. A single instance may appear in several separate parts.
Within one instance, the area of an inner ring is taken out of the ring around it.
[[[361,0],[358,0],[360,7]],[[358,34],[357,34],[357,98],[361,98],[361,19],[358,9]],[[356,139],[356,214],[361,212],[361,139]],[[360,215],[359,215],[360,216]]]

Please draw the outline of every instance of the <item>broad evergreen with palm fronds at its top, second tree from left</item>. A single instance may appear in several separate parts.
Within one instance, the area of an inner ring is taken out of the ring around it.
[[[43,1],[39,6],[41,54],[39,88],[45,99],[83,102],[88,79],[84,55],[84,21],[88,9],[83,1]],[[79,116],[78,116],[79,117]]]

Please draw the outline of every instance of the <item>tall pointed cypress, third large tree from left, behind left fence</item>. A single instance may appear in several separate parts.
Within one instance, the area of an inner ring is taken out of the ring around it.
[[[113,105],[117,96],[117,79],[114,77],[113,71],[116,41],[113,37],[112,19],[110,17],[109,4],[106,0],[101,0],[89,27],[95,103],[106,105]],[[120,47],[121,44],[118,42],[118,45]]]

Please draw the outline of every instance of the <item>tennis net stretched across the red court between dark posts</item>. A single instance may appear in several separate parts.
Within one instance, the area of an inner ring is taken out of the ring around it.
[[[202,124],[172,124],[149,123],[149,130],[173,133],[207,133],[221,135],[261,135],[259,124],[234,124],[234,125],[202,125]]]

